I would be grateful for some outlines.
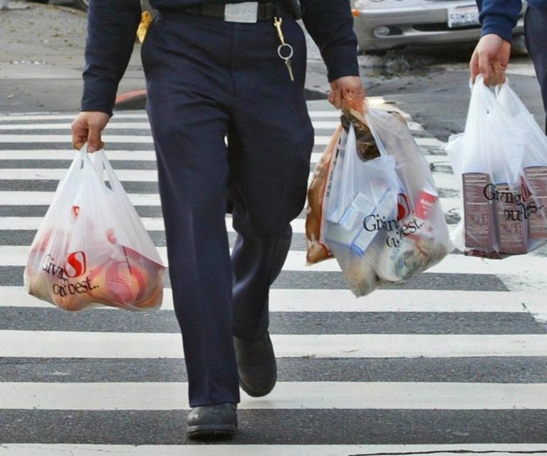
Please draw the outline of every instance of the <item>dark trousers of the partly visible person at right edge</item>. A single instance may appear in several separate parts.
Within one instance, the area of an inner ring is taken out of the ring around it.
[[[526,49],[536,68],[536,76],[541,88],[543,110],[546,112],[545,133],[547,134],[547,11],[528,6],[524,17],[524,38]]]

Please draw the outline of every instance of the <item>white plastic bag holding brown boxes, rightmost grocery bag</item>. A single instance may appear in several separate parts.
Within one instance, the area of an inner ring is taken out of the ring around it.
[[[508,80],[491,90],[477,77],[446,150],[462,196],[457,249],[502,259],[547,242],[547,137]]]

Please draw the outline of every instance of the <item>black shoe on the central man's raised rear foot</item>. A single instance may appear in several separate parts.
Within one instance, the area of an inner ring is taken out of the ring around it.
[[[276,385],[276,356],[268,331],[258,341],[234,337],[239,386],[250,396],[265,396]]]

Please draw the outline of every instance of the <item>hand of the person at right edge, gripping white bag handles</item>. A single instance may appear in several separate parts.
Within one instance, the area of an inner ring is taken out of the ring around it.
[[[505,82],[505,71],[511,56],[511,43],[494,33],[484,35],[477,43],[469,61],[471,80],[481,73],[486,86],[498,86]]]

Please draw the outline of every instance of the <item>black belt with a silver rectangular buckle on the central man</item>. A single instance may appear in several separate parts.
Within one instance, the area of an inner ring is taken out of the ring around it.
[[[260,3],[257,1],[246,1],[244,3],[203,3],[186,6],[181,9],[199,16],[209,16],[223,19],[226,22],[247,22],[269,21],[279,14],[279,11],[286,11],[281,4]]]

